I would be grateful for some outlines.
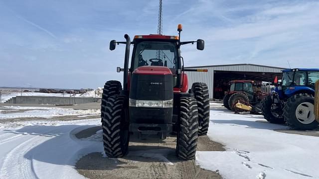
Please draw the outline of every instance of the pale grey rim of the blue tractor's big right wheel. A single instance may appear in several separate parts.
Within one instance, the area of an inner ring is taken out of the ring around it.
[[[296,108],[296,117],[303,124],[310,124],[315,120],[314,104],[303,102]]]

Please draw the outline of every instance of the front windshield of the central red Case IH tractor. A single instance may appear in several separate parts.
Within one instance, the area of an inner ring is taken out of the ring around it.
[[[133,70],[141,66],[162,66],[174,74],[177,70],[177,48],[173,42],[140,42],[136,45]]]

